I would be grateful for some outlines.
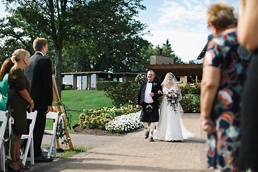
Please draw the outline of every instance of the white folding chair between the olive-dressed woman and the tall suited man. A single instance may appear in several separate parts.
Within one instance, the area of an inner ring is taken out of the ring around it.
[[[33,147],[33,130],[36,123],[38,111],[33,111],[31,113],[27,112],[27,119],[31,119],[31,124],[29,125],[29,134],[22,134],[22,139],[27,139],[26,147],[24,153],[21,155],[22,164],[26,164],[26,161],[30,161],[34,164],[34,147]],[[28,157],[30,149],[31,157]]]

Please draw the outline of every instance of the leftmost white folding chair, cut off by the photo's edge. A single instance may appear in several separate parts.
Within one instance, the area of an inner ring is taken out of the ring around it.
[[[4,141],[7,141],[3,138],[4,133],[6,131],[6,125],[8,123],[8,116],[7,116],[7,111],[0,111],[0,121],[1,121],[1,126],[0,126],[0,150],[1,150],[1,169],[2,171],[6,171],[5,168],[5,162],[6,162],[6,153],[5,153],[5,148],[4,148]],[[9,124],[11,125],[11,123]],[[10,130],[10,128],[9,128]]]

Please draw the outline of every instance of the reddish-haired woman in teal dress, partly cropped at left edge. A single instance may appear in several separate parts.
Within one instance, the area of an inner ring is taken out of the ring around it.
[[[7,58],[0,70],[0,111],[6,111],[6,102],[8,99],[8,73],[10,72],[10,68],[13,67],[13,62],[10,58]]]

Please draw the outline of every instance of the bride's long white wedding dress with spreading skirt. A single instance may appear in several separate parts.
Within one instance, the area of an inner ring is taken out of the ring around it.
[[[167,90],[168,88],[162,88],[163,93]],[[174,111],[172,107],[167,105],[167,100],[163,96],[160,106],[160,119],[153,138],[160,141],[183,141],[184,139],[195,136],[195,134],[189,132],[183,126],[182,115],[183,108],[181,104],[179,103],[177,110]]]

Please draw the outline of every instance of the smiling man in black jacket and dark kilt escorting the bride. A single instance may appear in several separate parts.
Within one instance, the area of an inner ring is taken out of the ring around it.
[[[147,74],[148,81],[142,81],[136,95],[136,108],[142,106],[142,112],[139,120],[146,129],[145,139],[149,138],[149,133],[151,132],[149,141],[154,141],[153,132],[159,119],[159,97],[162,96],[162,94],[158,94],[158,91],[162,91],[160,82],[153,80],[154,78],[155,72],[153,70],[149,70]]]

